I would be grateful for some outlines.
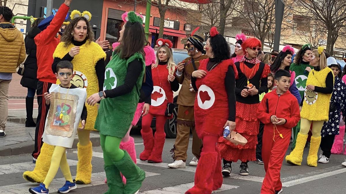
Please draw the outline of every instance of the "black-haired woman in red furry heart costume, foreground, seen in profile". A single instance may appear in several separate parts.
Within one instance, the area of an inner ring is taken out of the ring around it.
[[[237,69],[230,59],[228,43],[216,27],[204,49],[209,57],[200,61],[199,70],[192,72],[192,87],[198,91],[195,105],[195,126],[203,141],[194,186],[185,194],[210,194],[222,185],[221,158],[216,147],[226,126],[235,129],[235,79]],[[221,137],[222,138],[222,137]]]

